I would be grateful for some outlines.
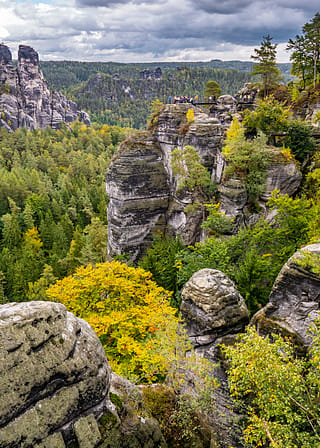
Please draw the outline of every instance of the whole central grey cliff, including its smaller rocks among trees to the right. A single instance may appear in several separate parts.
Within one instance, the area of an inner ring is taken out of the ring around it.
[[[234,230],[258,219],[259,213],[268,214],[266,203],[274,189],[289,195],[297,190],[301,172],[277,148],[267,168],[265,190],[257,200],[260,212],[252,211],[241,179],[224,178],[223,132],[234,113],[234,101],[228,95],[219,98],[215,106],[221,108],[215,112],[218,118],[191,104],[168,104],[153,116],[148,131],[137,132],[121,144],[106,177],[111,256],[128,254],[136,260],[150,245],[156,230],[179,234],[187,245],[203,237],[203,210],[186,213],[185,208],[197,201],[206,202],[207,198],[198,197],[195,191],[177,189],[178,179],[171,168],[175,148],[191,145],[197,150],[201,163],[218,185],[221,211],[233,219]],[[194,120],[188,121],[190,109]],[[225,116],[223,123],[221,114]]]

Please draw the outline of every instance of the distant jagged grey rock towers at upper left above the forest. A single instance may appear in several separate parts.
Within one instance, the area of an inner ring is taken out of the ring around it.
[[[39,69],[38,53],[20,45],[15,68],[9,48],[0,44],[0,127],[57,129],[61,122],[75,120],[90,124],[88,114],[79,111],[76,103],[49,89]]]

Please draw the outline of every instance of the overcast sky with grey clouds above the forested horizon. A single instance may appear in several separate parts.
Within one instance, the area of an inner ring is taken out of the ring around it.
[[[41,60],[250,60],[263,36],[289,61],[289,38],[319,0],[0,0],[0,40]]]

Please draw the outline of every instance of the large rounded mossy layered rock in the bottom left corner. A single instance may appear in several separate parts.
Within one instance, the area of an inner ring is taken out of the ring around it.
[[[2,305],[0,353],[1,448],[97,446],[111,373],[89,324],[58,303]]]

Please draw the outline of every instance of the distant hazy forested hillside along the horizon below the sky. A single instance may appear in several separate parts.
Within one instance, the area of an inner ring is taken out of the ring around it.
[[[280,64],[285,77],[290,64]],[[49,85],[74,99],[99,124],[144,128],[152,101],[166,102],[174,95],[202,95],[209,80],[217,81],[223,94],[234,95],[252,81],[251,62],[41,62]]]

